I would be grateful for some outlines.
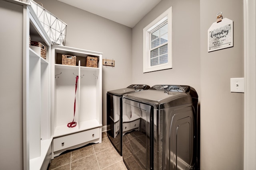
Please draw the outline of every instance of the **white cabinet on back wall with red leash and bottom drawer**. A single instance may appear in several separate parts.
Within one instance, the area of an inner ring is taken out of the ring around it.
[[[62,64],[62,55],[76,56],[76,65]],[[97,58],[97,67],[86,66],[88,56]],[[52,156],[88,143],[101,143],[102,53],[52,45],[52,63]],[[73,118],[76,127],[68,127]]]

